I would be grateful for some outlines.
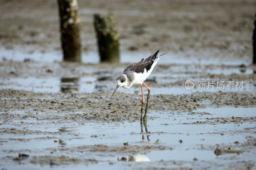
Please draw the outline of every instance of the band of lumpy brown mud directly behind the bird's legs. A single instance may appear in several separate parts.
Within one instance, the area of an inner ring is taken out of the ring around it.
[[[94,92],[79,94],[63,93],[35,93],[19,90],[0,90],[1,109],[9,111],[26,111],[26,117],[36,117],[40,120],[38,112],[61,115],[41,115],[44,119],[56,120],[82,119],[104,121],[127,121],[140,118],[141,96],[139,94],[125,94],[117,92],[118,98],[109,98],[110,92]],[[232,100],[230,100],[232,99]],[[191,95],[151,95],[150,110],[170,112],[192,112],[197,108],[207,107],[254,107],[256,95],[238,92],[201,92]],[[135,106],[135,107],[134,107]],[[73,114],[72,114],[73,112]],[[78,114],[76,112],[82,112]],[[35,114],[36,113],[36,114]],[[136,114],[137,113],[137,114]],[[6,114],[2,114],[4,116]],[[8,115],[9,116],[9,115]],[[15,116],[15,117],[13,117]],[[17,116],[17,117],[16,117]],[[49,116],[49,117],[48,117]],[[12,115],[13,118],[26,118],[24,115]],[[4,117],[3,117],[4,118]]]

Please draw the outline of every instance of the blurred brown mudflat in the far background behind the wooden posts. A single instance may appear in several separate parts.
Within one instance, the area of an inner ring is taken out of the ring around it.
[[[28,54],[60,51],[57,2],[1,1],[0,43]],[[15,4],[15,5],[14,5]],[[93,14],[114,12],[125,51],[251,61],[256,3],[247,1],[78,1],[84,52],[97,51]],[[211,55],[209,55],[211,54]],[[236,54],[236,55],[233,55]],[[6,56],[7,57],[7,56]]]

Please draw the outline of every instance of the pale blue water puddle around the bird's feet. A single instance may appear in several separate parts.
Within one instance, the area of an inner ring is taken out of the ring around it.
[[[231,116],[243,116],[252,117],[254,116],[255,107],[239,107],[239,108],[207,108],[207,109],[197,109],[195,112],[197,114],[187,113],[169,113],[169,112],[152,112],[149,113],[149,118],[147,122],[147,127],[141,127],[140,122],[48,122],[45,121],[34,121],[35,119],[22,120],[23,124],[20,124],[20,120],[13,120],[9,124],[2,124],[2,128],[18,128],[24,127],[28,130],[40,130],[49,132],[63,132],[60,136],[65,136],[65,134],[73,134],[82,137],[82,139],[63,139],[67,145],[76,145],[81,143],[79,140],[83,140],[87,145],[91,144],[106,144],[106,145],[122,145],[125,142],[129,142],[131,145],[141,145],[147,144],[147,138],[142,143],[142,135],[149,135],[151,144],[157,139],[160,139],[164,145],[169,147],[188,147],[190,145],[195,145],[198,143],[216,144],[221,143],[217,141],[223,141],[224,143],[232,143],[235,138],[245,141],[243,134],[236,135],[232,137],[231,134],[220,135],[220,132],[225,131],[228,133],[229,130],[239,130],[245,127],[253,128],[255,125],[249,122],[244,122],[237,126],[237,124],[226,123],[226,124],[184,124],[193,123],[197,121],[206,120],[207,117],[231,117]],[[203,114],[200,113],[209,113]],[[4,123],[4,122],[2,122]],[[42,127],[42,124],[44,126]],[[27,127],[26,127],[27,126]],[[147,133],[147,131],[149,133]],[[143,132],[141,134],[141,132]],[[212,132],[215,133],[216,138],[212,138]],[[224,132],[223,132],[224,133]],[[58,134],[54,134],[58,135]],[[94,137],[96,135],[97,137]],[[32,137],[31,135],[28,135]],[[8,135],[8,137],[22,137],[25,136],[18,135]],[[50,135],[51,136],[51,135]],[[241,136],[241,137],[238,137]],[[4,137],[4,136],[2,136]],[[36,137],[41,137],[41,135],[36,135]],[[202,141],[202,139],[204,140]],[[113,140],[115,139],[115,140]],[[183,142],[180,144],[179,140]],[[77,142],[77,141],[78,142]]]

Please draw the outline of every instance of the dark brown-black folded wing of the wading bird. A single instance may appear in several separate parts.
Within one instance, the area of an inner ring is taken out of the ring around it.
[[[159,51],[159,50],[158,50]],[[157,58],[157,53],[158,51],[156,51],[155,54],[150,55],[148,58],[146,58],[144,60],[144,58],[142,58],[141,61],[137,62],[137,63],[133,63],[131,65],[129,65],[124,72],[126,71],[134,71],[136,73],[143,73],[144,69],[146,69],[147,71],[151,69],[152,64],[154,63],[155,59]]]

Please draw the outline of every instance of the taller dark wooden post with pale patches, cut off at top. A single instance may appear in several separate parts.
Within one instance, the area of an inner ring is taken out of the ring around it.
[[[77,0],[58,0],[64,61],[81,62],[81,38]]]

